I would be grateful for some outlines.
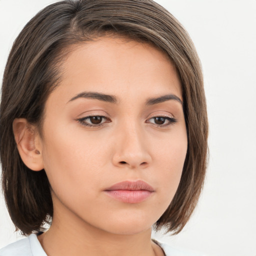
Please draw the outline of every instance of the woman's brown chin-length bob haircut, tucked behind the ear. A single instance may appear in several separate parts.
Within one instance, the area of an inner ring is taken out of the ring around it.
[[[197,203],[206,169],[208,123],[200,61],[187,32],[152,0],[63,0],[45,7],[25,25],[3,75],[2,188],[10,217],[23,234],[44,230],[53,208],[45,171],[31,171],[22,162],[12,122],[26,118],[42,135],[44,105],[61,80],[59,67],[70,46],[104,35],[155,46],[170,58],[181,82],[187,153],[177,191],[154,228],[178,233]]]

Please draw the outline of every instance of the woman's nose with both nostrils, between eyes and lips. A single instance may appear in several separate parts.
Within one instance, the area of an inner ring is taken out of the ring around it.
[[[112,162],[126,168],[145,168],[150,164],[149,143],[142,128],[133,124],[118,129]]]

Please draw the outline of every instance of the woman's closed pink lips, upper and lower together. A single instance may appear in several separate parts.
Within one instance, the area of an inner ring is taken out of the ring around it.
[[[152,186],[142,180],[122,181],[106,188],[104,192],[119,201],[138,203],[147,199],[153,192]]]

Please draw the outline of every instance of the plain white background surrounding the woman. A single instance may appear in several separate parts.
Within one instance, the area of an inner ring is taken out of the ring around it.
[[[52,2],[0,0],[0,77],[18,32]],[[256,256],[256,0],[157,2],[197,48],[210,130],[206,182],[192,218],[178,235],[156,237],[212,256]],[[18,236],[0,198],[0,247]]]

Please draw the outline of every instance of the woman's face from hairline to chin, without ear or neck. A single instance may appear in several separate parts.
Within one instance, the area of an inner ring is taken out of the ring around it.
[[[73,48],[61,71],[40,140],[53,223],[150,228],[174,196],[187,150],[173,65],[146,43],[101,37]]]

